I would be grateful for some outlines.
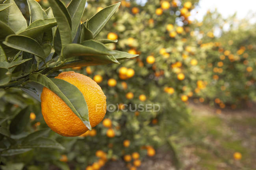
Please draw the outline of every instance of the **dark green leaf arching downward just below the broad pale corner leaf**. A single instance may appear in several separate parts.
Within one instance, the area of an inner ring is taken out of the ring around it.
[[[45,52],[42,46],[34,39],[24,35],[9,35],[3,42],[6,46],[37,55],[43,61],[45,60]]]

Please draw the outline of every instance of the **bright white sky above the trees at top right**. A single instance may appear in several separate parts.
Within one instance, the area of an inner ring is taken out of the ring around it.
[[[202,20],[203,16],[210,11],[214,11],[215,8],[224,18],[237,13],[238,19],[251,16],[252,13],[256,13],[256,0],[200,0],[199,6],[194,9],[191,14],[191,19]],[[197,11],[198,13],[195,13]],[[250,18],[251,23],[256,22],[256,17]]]

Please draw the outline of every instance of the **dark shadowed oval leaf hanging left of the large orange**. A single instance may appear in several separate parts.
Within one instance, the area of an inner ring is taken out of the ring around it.
[[[29,122],[30,109],[25,107],[20,111],[18,115],[16,115],[13,120],[11,120],[11,124],[9,130],[11,134],[17,135],[21,133]]]

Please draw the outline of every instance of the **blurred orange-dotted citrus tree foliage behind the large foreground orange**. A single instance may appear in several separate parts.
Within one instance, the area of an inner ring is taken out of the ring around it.
[[[26,1],[15,2],[28,19]],[[63,2],[68,4],[69,0]],[[88,0],[82,21],[116,2]],[[49,7],[47,0],[39,3],[45,9]],[[191,127],[189,102],[215,106],[220,114],[225,108],[252,107],[256,101],[255,24],[235,16],[224,19],[217,11],[209,11],[202,22],[191,21],[190,11],[197,5],[198,0],[122,0],[98,39],[118,39],[108,47],[139,56],[121,65],[67,70],[93,78],[102,87],[108,104],[119,108],[130,104],[134,111],[127,108],[127,112],[107,112],[103,123],[80,137],[62,137],[50,131],[48,136],[65,150],[35,148],[17,155],[1,153],[1,168],[97,170],[109,160],[123,160],[128,169],[134,170],[141,164],[134,160],[154,156],[160,146],[168,147],[176,168],[182,167],[177,141],[184,136],[194,141],[191,133],[205,133]],[[138,104],[159,104],[161,109],[135,111]],[[19,89],[0,91],[1,126],[8,126],[9,120],[26,106],[31,110],[28,125],[13,138],[47,125],[39,102]],[[211,126],[215,120],[197,121]]]

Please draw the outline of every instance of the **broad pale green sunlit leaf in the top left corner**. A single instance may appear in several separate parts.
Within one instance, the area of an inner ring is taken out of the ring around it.
[[[0,11],[0,20],[8,25],[15,33],[24,31],[28,25],[19,7],[14,0],[6,0],[4,4],[12,4],[10,7]]]

